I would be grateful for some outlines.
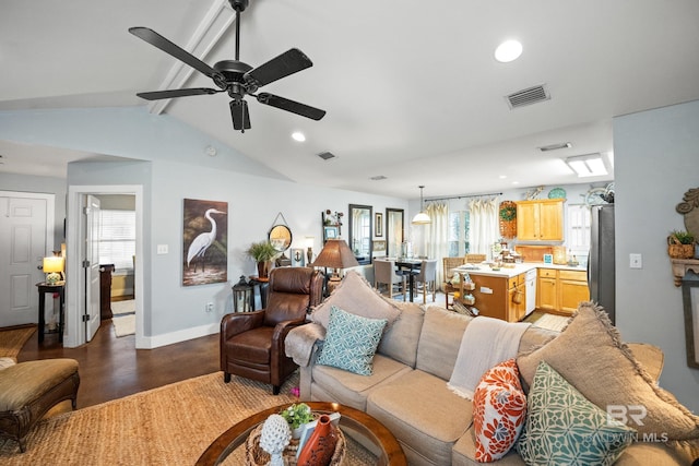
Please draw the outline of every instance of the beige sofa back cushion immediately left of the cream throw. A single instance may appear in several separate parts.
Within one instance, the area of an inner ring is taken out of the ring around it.
[[[473,318],[430,306],[417,344],[416,369],[445,381],[451,378],[466,325]]]

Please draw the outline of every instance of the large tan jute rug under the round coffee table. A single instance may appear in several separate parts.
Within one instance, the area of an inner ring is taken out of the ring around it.
[[[64,413],[40,421],[27,435],[27,450],[0,440],[2,465],[193,465],[221,433],[248,416],[272,406],[294,403],[289,390],[280,395],[271,386],[223,373],[212,373],[138,393],[120,399]],[[225,465],[242,465],[238,449]],[[362,451],[348,464],[371,465]]]

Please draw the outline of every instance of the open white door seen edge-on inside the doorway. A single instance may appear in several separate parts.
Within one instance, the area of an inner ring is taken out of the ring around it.
[[[91,342],[100,323],[99,314],[99,200],[85,196],[85,339]]]

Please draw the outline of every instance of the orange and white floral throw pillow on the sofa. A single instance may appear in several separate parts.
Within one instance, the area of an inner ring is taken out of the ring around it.
[[[510,451],[526,417],[526,396],[514,359],[483,374],[473,395],[476,461],[489,463]]]

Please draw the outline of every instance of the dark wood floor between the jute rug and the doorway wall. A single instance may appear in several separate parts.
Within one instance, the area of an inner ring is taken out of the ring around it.
[[[39,345],[35,332],[17,355],[19,361],[49,358],[78,360],[78,407],[84,408],[218,371],[218,334],[155,349],[135,349],[135,336],[117,338],[111,320],[106,320],[86,345],[63,348],[56,334],[47,334]]]

